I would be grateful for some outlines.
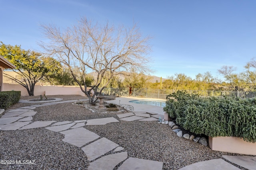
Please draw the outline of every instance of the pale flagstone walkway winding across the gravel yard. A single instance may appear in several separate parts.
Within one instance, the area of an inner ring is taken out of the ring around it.
[[[137,98],[116,98],[109,103],[114,104],[132,104],[130,100]],[[164,112],[162,107],[149,106],[143,104],[132,104],[134,111],[130,113],[118,114],[119,120],[114,117],[90,120],[77,120],[77,121],[32,121],[32,116],[36,114],[33,111],[36,107],[54,105],[66,102],[77,102],[78,100],[68,100],[60,102],[49,102],[42,105],[32,105],[28,107],[21,107],[5,111],[2,118],[0,118],[0,131],[9,130],[22,130],[32,128],[46,128],[50,131],[59,132],[65,135],[62,141],[80,147],[86,154],[90,161],[88,170],[104,169],[113,170],[113,168],[123,162],[118,170],[162,170],[163,162],[154,160],[145,160],[139,158],[128,158],[127,152],[123,151],[124,148],[118,144],[100,137],[96,133],[88,131],[84,127],[86,125],[104,125],[106,123],[113,123],[122,121],[158,121],[158,117],[163,118]],[[154,108],[155,107],[155,108]],[[92,142],[93,141],[93,142]],[[89,143],[89,144],[88,144]],[[114,153],[113,153],[114,152]],[[108,154],[109,153],[109,154]],[[112,154],[110,154],[112,153]],[[104,155],[104,156],[103,156]],[[256,170],[256,157],[254,156],[222,156],[234,164],[247,168],[249,170]],[[214,159],[203,162],[197,162],[181,168],[180,170],[239,170],[236,166],[226,162],[224,159]]]

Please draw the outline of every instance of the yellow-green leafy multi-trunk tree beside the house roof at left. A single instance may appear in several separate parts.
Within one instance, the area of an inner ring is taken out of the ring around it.
[[[34,87],[39,80],[60,68],[60,63],[52,57],[43,57],[38,52],[21,49],[18,45],[5,45],[1,42],[0,55],[16,66],[12,70],[21,78],[6,73],[3,73],[4,76],[26,88],[29,96],[34,96]]]

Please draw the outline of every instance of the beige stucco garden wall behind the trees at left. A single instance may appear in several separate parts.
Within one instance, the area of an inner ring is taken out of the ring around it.
[[[26,88],[20,84],[8,84],[4,83],[4,91],[20,91],[21,96],[29,96]],[[89,88],[88,88],[89,90]],[[80,89],[79,86],[42,86],[36,85],[34,89],[34,96],[40,95],[81,95],[86,96]]]

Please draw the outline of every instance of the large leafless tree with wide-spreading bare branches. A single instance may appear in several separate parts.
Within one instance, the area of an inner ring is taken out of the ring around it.
[[[79,84],[82,92],[88,96],[90,104],[94,103],[96,92],[109,84],[111,78],[122,74],[122,71],[137,70],[149,71],[150,58],[146,57],[150,46],[150,37],[143,37],[136,24],[132,27],[99,25],[91,20],[82,18],[77,25],[60,29],[56,25],[42,25],[44,35],[50,43],[43,43],[42,47],[52,56],[68,66],[74,80]],[[86,81],[86,73],[95,72],[96,78],[90,88],[86,83],[77,80],[73,68],[78,67]],[[108,80],[102,80],[105,74]],[[101,84],[101,86],[100,86]],[[100,88],[99,88],[100,87]],[[90,93],[94,90],[94,94]]]

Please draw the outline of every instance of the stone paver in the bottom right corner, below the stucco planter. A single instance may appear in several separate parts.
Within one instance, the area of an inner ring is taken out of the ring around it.
[[[248,170],[256,170],[256,157],[255,156],[228,156],[222,155],[222,157],[234,164],[242,166]]]

